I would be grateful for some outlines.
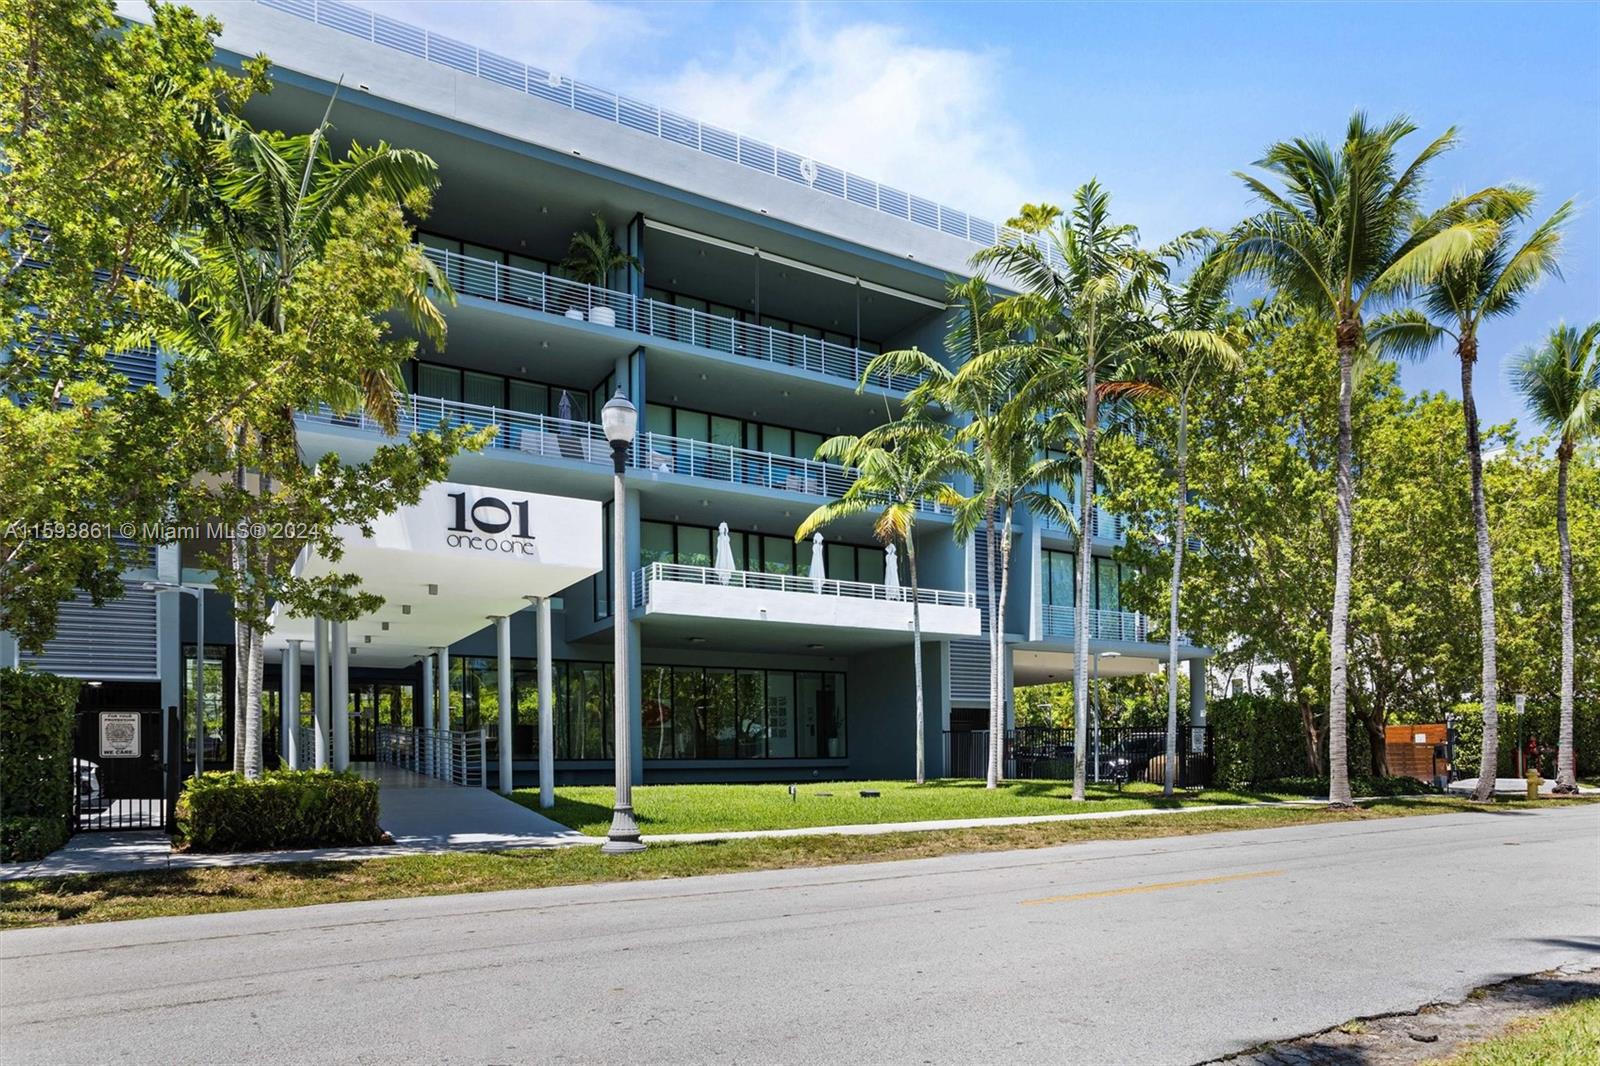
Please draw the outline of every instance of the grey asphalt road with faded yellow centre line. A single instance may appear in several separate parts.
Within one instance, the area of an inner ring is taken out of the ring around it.
[[[5,1063],[1192,1063],[1600,964],[1600,807],[0,933]]]

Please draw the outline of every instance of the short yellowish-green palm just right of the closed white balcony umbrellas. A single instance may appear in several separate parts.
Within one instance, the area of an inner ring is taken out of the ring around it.
[[[965,467],[966,456],[946,435],[944,427],[922,418],[888,423],[862,437],[832,437],[818,448],[818,459],[856,467],[856,480],[843,496],[813,511],[795,541],[805,541],[830,522],[861,514],[877,514],[872,531],[883,544],[906,549],[910,571],[912,671],[917,683],[917,784],[928,779],[923,699],[922,699],[922,600],[917,581],[917,512],[928,504],[952,507],[960,495],[947,477]]]

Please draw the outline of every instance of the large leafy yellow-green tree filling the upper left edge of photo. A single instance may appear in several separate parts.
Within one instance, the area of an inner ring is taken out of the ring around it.
[[[218,32],[178,6],[120,26],[102,0],[0,0],[0,627],[30,650],[74,592],[122,595],[141,546],[106,533],[160,522],[187,479],[173,402],[115,355],[176,312],[149,259],[205,131],[262,85],[261,61],[211,62]]]

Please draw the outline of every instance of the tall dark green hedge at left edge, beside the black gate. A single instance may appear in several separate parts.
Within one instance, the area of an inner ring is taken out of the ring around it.
[[[72,826],[78,682],[0,669],[0,861],[50,855]]]

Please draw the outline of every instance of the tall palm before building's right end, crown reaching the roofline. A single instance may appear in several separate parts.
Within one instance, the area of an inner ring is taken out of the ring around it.
[[[1118,378],[1131,363],[1147,331],[1146,298],[1155,274],[1154,259],[1139,250],[1139,232],[1110,219],[1110,195],[1096,181],[1072,194],[1070,211],[1051,205],[1026,205],[1011,229],[1027,240],[1006,240],[984,248],[973,259],[1021,283],[1022,293],[997,307],[1011,330],[1030,338],[1016,352],[1022,357],[1014,400],[1019,410],[1066,413],[1069,397],[1080,400],[1082,416],[1072,419],[1066,442],[1074,451],[1078,491],[1078,600],[1072,655],[1075,699],[1072,749],[1072,797],[1083,799],[1086,784],[1090,658],[1090,567],[1094,530],[1094,450],[1101,405],[1117,395]],[[1066,419],[1053,419],[1056,426]]]

